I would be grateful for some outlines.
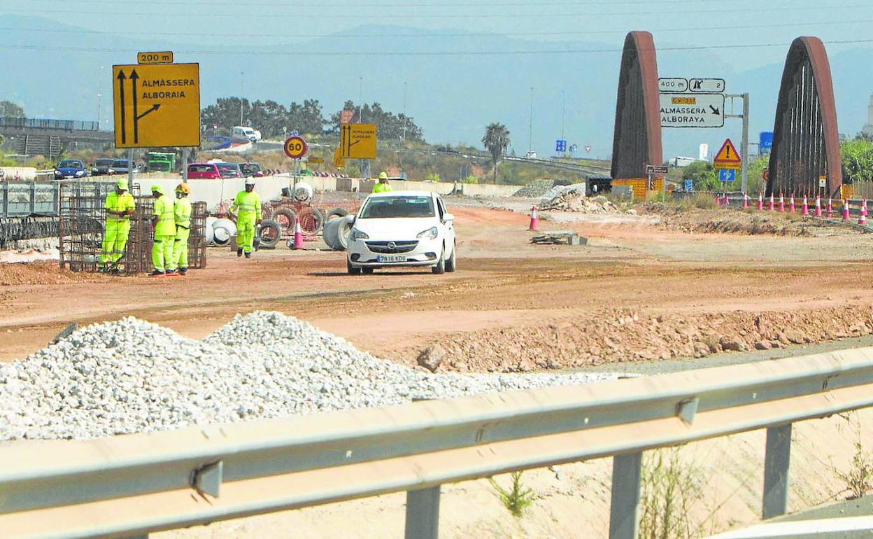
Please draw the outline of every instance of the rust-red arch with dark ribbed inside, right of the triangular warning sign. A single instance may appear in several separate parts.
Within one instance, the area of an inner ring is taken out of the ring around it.
[[[827,176],[819,187],[819,176]],[[839,197],[842,185],[834,84],[819,38],[794,39],[785,59],[766,194]]]

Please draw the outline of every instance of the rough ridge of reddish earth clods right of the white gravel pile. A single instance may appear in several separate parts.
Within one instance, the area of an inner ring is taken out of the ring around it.
[[[524,372],[703,357],[873,334],[873,307],[718,314],[604,310],[541,327],[450,335],[440,370]],[[403,356],[413,358],[418,350]]]

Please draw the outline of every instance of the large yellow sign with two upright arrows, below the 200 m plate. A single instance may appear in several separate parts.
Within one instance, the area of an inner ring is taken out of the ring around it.
[[[115,148],[200,146],[200,65],[113,66]]]

